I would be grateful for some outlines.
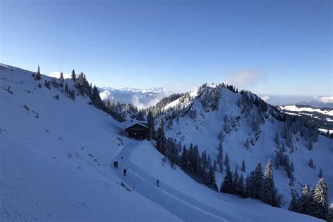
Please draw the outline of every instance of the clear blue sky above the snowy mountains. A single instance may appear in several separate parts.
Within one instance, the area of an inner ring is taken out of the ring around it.
[[[0,2],[8,65],[98,86],[333,94],[331,1]]]

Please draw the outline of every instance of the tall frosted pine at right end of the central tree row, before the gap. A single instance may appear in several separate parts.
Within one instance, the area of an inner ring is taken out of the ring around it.
[[[263,177],[263,183],[261,184],[260,200],[266,202],[272,206],[276,206],[276,193],[275,183],[273,178],[273,166],[269,159],[266,165],[265,175]]]

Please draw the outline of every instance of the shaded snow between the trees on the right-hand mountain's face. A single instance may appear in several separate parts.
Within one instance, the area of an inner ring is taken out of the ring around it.
[[[264,124],[261,124],[259,140],[255,145],[250,145],[249,150],[245,148],[247,138],[254,138],[252,130],[252,115],[256,115],[258,108],[254,106],[254,110],[250,115],[242,112],[242,109],[237,106],[237,100],[240,98],[239,93],[233,93],[228,89],[221,89],[221,100],[218,106],[218,111],[205,112],[202,107],[200,98],[194,98],[191,101],[191,110],[197,111],[197,117],[191,118],[190,115],[185,115],[179,118],[179,123],[174,119],[171,129],[166,129],[166,137],[176,138],[181,141],[182,145],[188,148],[190,144],[198,145],[200,154],[206,150],[207,155],[211,155],[211,161],[214,161],[218,155],[218,133],[223,131],[225,123],[224,117],[228,115],[229,119],[237,119],[230,133],[226,134],[223,141],[223,157],[228,153],[230,158],[230,168],[232,171],[235,167],[242,164],[244,159],[247,171],[243,173],[244,178],[253,169],[256,164],[261,162],[263,167],[268,162],[268,159],[275,159],[276,148],[274,138],[275,133],[282,131],[283,123],[269,117]],[[167,128],[167,126],[166,126]],[[280,136],[280,142],[285,143],[285,139]],[[319,180],[319,170],[323,170],[325,182],[327,183],[329,200],[333,200],[333,143],[332,140],[319,136],[319,141],[313,143],[313,150],[306,148],[306,141],[303,141],[299,135],[294,136],[294,153],[290,153],[290,148],[286,146],[287,154],[290,162],[294,164],[294,177],[296,182],[294,188],[299,192],[305,183],[314,185]],[[313,158],[316,169],[308,167],[309,159]],[[306,170],[304,170],[306,169]],[[282,195],[282,207],[286,208],[291,200],[289,178],[284,170],[274,169],[275,185],[278,192]],[[221,185],[223,174],[216,174],[217,185]]]

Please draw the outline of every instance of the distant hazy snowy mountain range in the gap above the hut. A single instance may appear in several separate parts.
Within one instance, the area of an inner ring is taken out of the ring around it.
[[[115,89],[103,87],[100,88],[99,91],[102,100],[109,99],[111,102],[119,101],[120,103],[131,103],[136,105],[139,109],[155,105],[159,100],[170,94],[165,88]]]

